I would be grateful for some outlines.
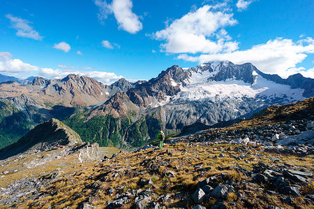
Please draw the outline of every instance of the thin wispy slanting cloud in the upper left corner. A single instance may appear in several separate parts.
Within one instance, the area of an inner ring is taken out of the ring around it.
[[[13,15],[6,15],[6,17],[10,20],[11,22],[11,27],[14,29],[17,29],[16,35],[17,36],[22,36],[25,38],[32,38],[35,40],[42,40],[43,36],[40,36],[36,30],[33,29],[29,24],[29,20],[23,20],[19,17],[15,17]]]

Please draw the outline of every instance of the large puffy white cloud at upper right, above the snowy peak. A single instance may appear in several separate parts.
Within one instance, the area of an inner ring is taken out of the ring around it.
[[[165,41],[160,47],[170,53],[216,53],[237,50],[238,43],[230,41],[230,36],[223,29],[237,24],[232,14],[212,11],[205,5],[195,12],[190,12],[174,20],[166,28],[157,31],[153,37]]]

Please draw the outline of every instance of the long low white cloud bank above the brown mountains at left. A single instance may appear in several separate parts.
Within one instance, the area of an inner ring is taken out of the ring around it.
[[[7,59],[5,61],[0,61],[0,73],[3,75],[15,76],[17,78],[27,78],[31,75],[42,76],[44,78],[64,78],[70,73],[75,73],[78,75],[86,75],[105,84],[110,84],[120,78],[123,78],[121,75],[107,73],[104,71],[80,71],[76,67],[69,67],[65,65],[59,65],[58,67],[62,69],[40,68],[38,66],[24,63],[20,59]],[[84,69],[90,70],[92,68],[86,67]]]

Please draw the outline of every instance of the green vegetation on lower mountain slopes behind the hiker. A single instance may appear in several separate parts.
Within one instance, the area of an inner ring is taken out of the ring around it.
[[[131,118],[114,118],[100,115],[87,120],[87,111],[76,113],[63,122],[80,135],[83,141],[98,143],[100,146],[126,148],[140,147],[156,140],[160,121],[153,117],[142,117],[132,124]],[[128,142],[128,145],[124,143]]]

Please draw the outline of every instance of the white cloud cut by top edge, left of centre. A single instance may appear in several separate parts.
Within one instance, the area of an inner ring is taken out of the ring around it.
[[[98,13],[98,19],[104,22],[107,16],[114,14],[119,29],[123,29],[130,34],[136,34],[142,30],[142,22],[139,17],[132,12],[133,2],[130,0],[112,0],[111,4],[108,4],[105,0],[96,0],[96,6],[98,6],[100,13]]]

